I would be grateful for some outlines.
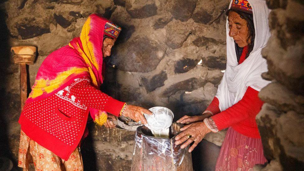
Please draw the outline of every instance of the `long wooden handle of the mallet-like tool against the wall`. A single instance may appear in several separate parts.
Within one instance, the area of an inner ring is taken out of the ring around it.
[[[21,111],[27,99],[27,73],[26,64],[20,64],[20,97],[21,97]]]

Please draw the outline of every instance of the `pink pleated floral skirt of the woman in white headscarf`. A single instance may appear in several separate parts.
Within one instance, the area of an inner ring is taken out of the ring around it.
[[[253,171],[256,164],[264,164],[262,140],[251,138],[228,128],[221,152],[217,158],[216,171]]]

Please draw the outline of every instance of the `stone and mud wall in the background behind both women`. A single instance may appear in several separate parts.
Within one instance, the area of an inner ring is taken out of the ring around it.
[[[16,161],[20,131],[19,66],[11,62],[9,46],[38,47],[37,60],[29,66],[31,86],[45,57],[77,37],[91,13],[100,13],[123,28],[112,56],[106,60],[102,89],[130,104],[169,107],[177,120],[185,114],[202,113],[216,93],[221,70],[226,67],[224,11],[228,3],[229,0],[0,1],[4,52],[0,59],[4,99],[0,117],[7,130],[2,136],[8,137],[3,139],[5,155]],[[92,123],[89,127],[91,138],[82,151],[97,162],[85,162],[87,169],[129,170],[134,133],[107,130]],[[221,145],[224,135],[207,135],[207,139]]]

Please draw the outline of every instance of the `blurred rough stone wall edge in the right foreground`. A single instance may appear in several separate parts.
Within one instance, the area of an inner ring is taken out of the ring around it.
[[[271,37],[262,55],[272,80],[259,93],[266,103],[256,117],[265,157],[256,170],[304,170],[304,2],[267,0]]]

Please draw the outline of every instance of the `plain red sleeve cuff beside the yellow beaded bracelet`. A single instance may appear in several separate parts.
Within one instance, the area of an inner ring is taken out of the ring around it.
[[[125,102],[121,102],[112,97],[109,97],[109,99],[107,100],[107,104],[104,106],[104,110],[118,117],[125,104]]]

